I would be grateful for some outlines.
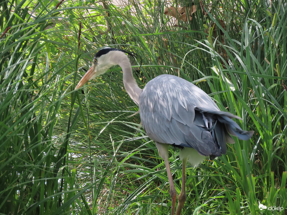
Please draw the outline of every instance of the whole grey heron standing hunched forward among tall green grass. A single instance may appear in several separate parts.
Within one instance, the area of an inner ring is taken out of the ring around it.
[[[131,52],[102,48],[93,64],[79,81],[79,89],[87,81],[119,65],[123,70],[123,84],[127,94],[139,106],[141,122],[146,134],[155,141],[163,158],[170,186],[171,215],[175,213],[177,192],[170,166],[169,144],[180,147],[182,160],[182,189],[178,195],[176,215],[181,214],[186,200],[185,170],[187,162],[197,165],[204,158],[215,158],[226,153],[226,142],[234,143],[230,135],[248,140],[254,131],[245,131],[231,118],[241,119],[229,112],[220,111],[215,102],[203,90],[174,75],[159,75],[139,88],[132,75],[127,54]],[[230,134],[230,135],[229,135]]]

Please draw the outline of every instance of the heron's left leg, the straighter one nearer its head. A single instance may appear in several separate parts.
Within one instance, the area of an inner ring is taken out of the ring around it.
[[[164,160],[167,176],[169,178],[169,188],[170,188],[170,197],[171,197],[171,215],[174,215],[177,193],[175,190],[174,180],[172,178],[171,170],[169,166],[169,146],[168,144],[163,144],[163,143],[155,143],[155,144],[159,151],[160,156]]]

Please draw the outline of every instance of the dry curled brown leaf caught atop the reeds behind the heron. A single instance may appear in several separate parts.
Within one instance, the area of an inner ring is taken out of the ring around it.
[[[192,14],[196,11],[196,6],[192,5],[192,7],[165,7],[164,14],[169,16],[174,16],[179,20],[183,20],[187,22],[187,20],[192,20]],[[187,14],[189,12],[189,14]]]

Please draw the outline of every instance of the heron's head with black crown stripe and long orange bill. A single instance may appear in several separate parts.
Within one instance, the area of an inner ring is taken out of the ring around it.
[[[89,80],[105,73],[111,66],[117,65],[117,57],[115,56],[118,52],[125,52],[120,49],[105,47],[98,51],[94,58],[93,64],[86,74],[79,81],[75,89],[79,89]]]

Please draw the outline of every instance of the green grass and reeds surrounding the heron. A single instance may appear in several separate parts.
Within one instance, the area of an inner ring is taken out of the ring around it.
[[[121,69],[73,90],[106,45],[136,53],[140,87],[178,75],[255,131],[228,144],[226,155],[188,166],[183,214],[286,214],[286,8],[285,1],[1,1],[0,214],[170,213],[163,160]],[[171,149],[179,193],[177,160]]]

